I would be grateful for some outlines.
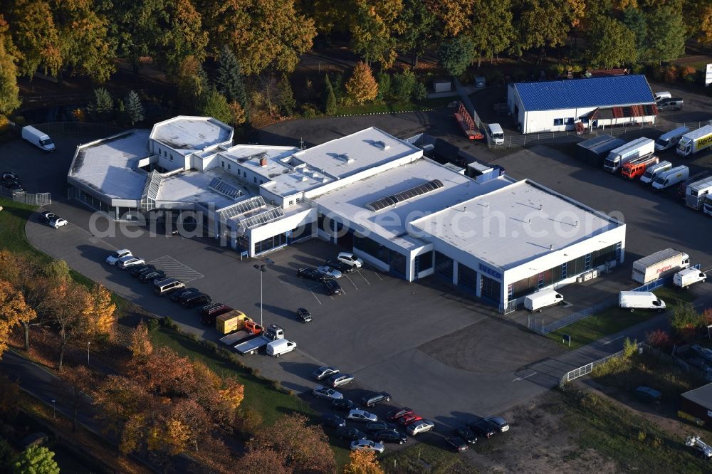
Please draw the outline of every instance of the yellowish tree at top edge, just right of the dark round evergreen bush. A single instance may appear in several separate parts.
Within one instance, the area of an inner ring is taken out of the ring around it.
[[[482,57],[492,60],[505,51],[514,38],[511,0],[476,0],[471,30],[473,48],[478,53],[477,67]]]

